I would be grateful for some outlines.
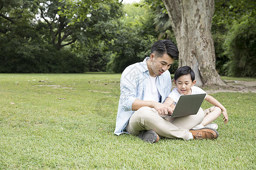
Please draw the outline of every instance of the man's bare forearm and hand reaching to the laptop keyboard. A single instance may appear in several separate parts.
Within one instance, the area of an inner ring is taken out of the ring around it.
[[[150,108],[154,108],[156,111],[158,111],[159,114],[167,115],[168,113],[173,112],[173,109],[166,104],[162,104],[156,101],[143,101],[139,99],[136,99],[134,101],[131,108],[133,111],[137,111],[139,108],[146,107],[146,106]]]

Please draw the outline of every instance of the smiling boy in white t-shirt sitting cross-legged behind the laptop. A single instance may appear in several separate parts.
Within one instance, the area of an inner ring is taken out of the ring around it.
[[[176,70],[174,75],[174,83],[177,88],[171,91],[168,95],[164,104],[170,105],[172,108],[175,107],[177,101],[179,100],[181,95],[191,95],[191,94],[207,94],[200,87],[194,86],[196,84],[195,73],[189,66],[183,66]],[[214,107],[204,110],[204,120],[197,125],[193,129],[201,129],[201,128],[212,128],[217,129],[217,124],[210,124],[210,122],[216,120],[222,114],[224,115],[224,123],[228,122],[228,114],[226,112],[226,108],[218,102],[214,97],[210,95],[205,96],[205,100],[207,100],[210,104],[213,104]]]

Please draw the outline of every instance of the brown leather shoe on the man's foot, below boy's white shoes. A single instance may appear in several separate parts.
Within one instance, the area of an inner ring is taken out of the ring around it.
[[[199,130],[189,130],[193,134],[194,139],[216,139],[218,138],[218,132],[211,128],[202,128]]]

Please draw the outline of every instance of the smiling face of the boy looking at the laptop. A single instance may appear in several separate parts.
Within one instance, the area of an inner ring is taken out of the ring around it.
[[[191,75],[181,75],[177,80],[174,80],[174,83],[177,86],[180,94],[182,95],[191,95],[191,87],[196,84],[196,80],[191,80]]]

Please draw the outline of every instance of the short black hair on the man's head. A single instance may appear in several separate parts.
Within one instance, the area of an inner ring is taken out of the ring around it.
[[[179,59],[179,50],[171,40],[156,41],[151,47],[151,54],[156,54],[156,57],[162,57],[163,54],[168,54],[174,59]]]

